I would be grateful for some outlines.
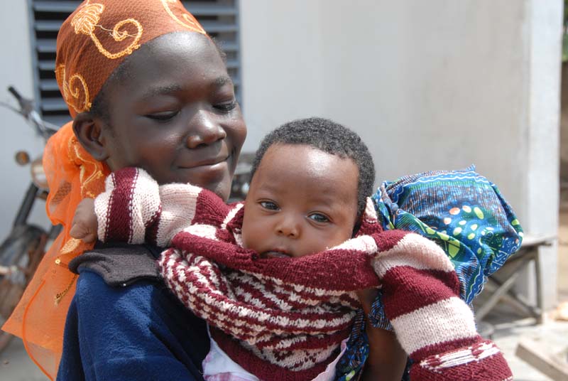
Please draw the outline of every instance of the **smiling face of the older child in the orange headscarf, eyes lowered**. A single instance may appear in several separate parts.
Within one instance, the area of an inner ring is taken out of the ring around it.
[[[145,169],[158,183],[192,183],[226,200],[246,127],[214,43],[170,33],[131,55],[107,84],[107,164]]]

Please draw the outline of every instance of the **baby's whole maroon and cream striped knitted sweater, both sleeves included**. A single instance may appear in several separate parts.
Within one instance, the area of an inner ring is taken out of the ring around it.
[[[301,258],[262,259],[241,245],[243,203],[189,184],[158,186],[125,168],[95,200],[99,239],[153,242],[168,287],[211,326],[219,346],[261,380],[311,380],[339,353],[359,302],[383,303],[413,360],[412,380],[511,380],[476,332],[452,263],[434,242],[383,231],[369,200],[356,237]],[[380,279],[380,281],[379,281]]]

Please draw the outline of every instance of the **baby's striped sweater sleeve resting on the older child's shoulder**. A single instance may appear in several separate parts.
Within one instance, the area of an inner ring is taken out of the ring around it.
[[[221,225],[217,216],[223,211],[209,210],[224,205],[211,201],[216,198],[191,184],[158,186],[141,168],[121,169],[111,173],[104,193],[94,200],[99,240],[168,247],[178,232],[194,223]]]

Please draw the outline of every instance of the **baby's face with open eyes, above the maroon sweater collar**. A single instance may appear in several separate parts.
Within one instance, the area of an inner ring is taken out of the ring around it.
[[[351,238],[359,171],[351,159],[274,144],[246,197],[243,244],[261,257],[303,257]]]

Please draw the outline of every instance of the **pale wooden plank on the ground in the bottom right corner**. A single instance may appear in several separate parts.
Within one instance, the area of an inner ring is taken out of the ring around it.
[[[559,355],[547,353],[547,349],[535,340],[520,340],[515,355],[552,380],[568,381],[568,363]]]

